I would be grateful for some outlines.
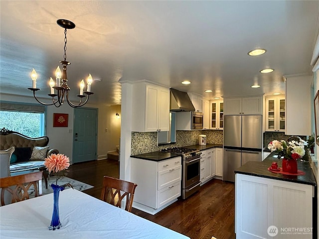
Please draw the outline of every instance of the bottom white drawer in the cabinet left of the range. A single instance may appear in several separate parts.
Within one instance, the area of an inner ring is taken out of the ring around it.
[[[178,198],[180,196],[181,185],[180,181],[171,184],[162,190],[158,191],[158,203],[157,208],[164,206],[166,203]]]

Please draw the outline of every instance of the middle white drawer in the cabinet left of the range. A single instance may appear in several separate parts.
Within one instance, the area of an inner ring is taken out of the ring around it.
[[[170,184],[180,182],[181,165],[158,172],[158,190],[167,187]]]

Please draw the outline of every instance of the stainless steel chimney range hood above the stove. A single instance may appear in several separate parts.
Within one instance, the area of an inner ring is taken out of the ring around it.
[[[170,111],[195,111],[186,92],[170,88]]]

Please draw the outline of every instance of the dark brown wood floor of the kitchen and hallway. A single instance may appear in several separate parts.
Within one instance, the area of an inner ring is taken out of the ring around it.
[[[103,176],[119,178],[119,162],[112,159],[73,164],[68,177],[94,186],[84,191],[100,198]],[[156,215],[132,209],[132,213],[191,239],[235,239],[234,184],[213,179],[186,200],[178,200]]]

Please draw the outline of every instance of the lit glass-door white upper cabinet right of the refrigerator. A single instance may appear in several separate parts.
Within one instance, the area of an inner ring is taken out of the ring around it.
[[[266,131],[285,132],[285,96],[266,97]]]

